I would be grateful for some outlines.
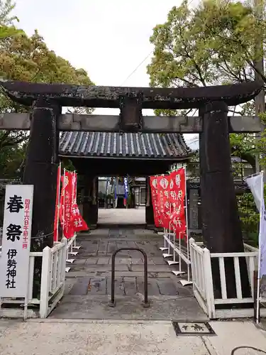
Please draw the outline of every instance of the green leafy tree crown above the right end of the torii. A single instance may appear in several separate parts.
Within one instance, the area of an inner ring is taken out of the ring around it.
[[[202,0],[192,9],[184,0],[170,10],[165,23],[153,29],[150,84],[199,87],[253,80],[255,60],[261,55],[255,51],[254,39],[265,40],[265,33],[265,21],[248,4]],[[243,109],[250,109],[250,104]]]

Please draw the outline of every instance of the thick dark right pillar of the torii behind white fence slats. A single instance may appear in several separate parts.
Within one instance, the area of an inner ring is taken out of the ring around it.
[[[212,102],[200,109],[204,131],[199,157],[201,171],[201,211],[204,241],[211,253],[244,251],[231,168],[231,150],[224,102]],[[233,258],[226,264],[228,297],[236,297]],[[214,289],[221,291],[218,260],[212,263]],[[250,296],[245,258],[240,258],[243,297]]]

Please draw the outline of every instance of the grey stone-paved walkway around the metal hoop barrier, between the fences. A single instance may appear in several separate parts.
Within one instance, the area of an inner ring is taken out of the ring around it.
[[[206,320],[192,287],[183,287],[162,258],[162,236],[144,229],[96,229],[80,234],[82,246],[67,273],[65,296],[51,318],[94,320]],[[143,308],[143,257],[138,251],[116,256],[116,307],[109,307],[111,255],[137,247],[148,255],[150,308]],[[177,269],[177,267],[176,267]],[[184,275],[183,275],[184,277]]]

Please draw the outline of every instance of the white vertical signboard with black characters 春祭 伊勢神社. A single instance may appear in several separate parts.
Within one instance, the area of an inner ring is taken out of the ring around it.
[[[6,185],[0,297],[27,297],[33,185]]]

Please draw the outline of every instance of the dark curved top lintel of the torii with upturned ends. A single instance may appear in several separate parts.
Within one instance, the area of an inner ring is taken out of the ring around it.
[[[38,97],[55,100],[65,107],[119,108],[121,97],[140,97],[143,109],[190,109],[207,102],[223,101],[228,106],[253,99],[262,89],[260,81],[209,87],[104,87],[73,84],[0,82],[14,101],[31,106]]]

